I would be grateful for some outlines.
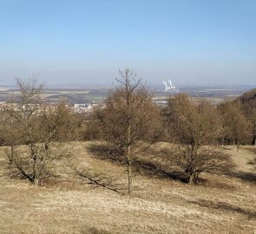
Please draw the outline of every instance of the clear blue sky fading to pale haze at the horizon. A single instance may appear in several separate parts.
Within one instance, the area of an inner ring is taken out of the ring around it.
[[[0,83],[256,86],[255,0],[0,0]]]

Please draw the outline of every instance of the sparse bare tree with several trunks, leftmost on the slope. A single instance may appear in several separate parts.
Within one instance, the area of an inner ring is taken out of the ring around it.
[[[19,152],[13,162],[23,177],[35,185],[43,185],[49,175],[48,163],[53,158],[50,151],[51,140],[57,140],[63,134],[68,139],[70,110],[64,102],[50,107],[41,99],[42,84],[33,78],[29,81],[17,79],[20,96],[16,103],[6,107],[6,114],[15,123],[11,133],[16,133],[27,150]],[[13,144],[13,142],[11,143]]]

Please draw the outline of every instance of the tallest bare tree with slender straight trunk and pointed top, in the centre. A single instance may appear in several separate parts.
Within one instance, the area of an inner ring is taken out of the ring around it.
[[[117,147],[128,172],[128,194],[133,191],[132,163],[156,140],[159,110],[141,79],[133,71],[120,71],[120,87],[108,95],[106,107],[98,112],[103,138]]]

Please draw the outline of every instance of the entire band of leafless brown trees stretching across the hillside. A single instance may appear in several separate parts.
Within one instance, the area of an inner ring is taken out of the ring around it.
[[[65,101],[49,106],[41,98],[43,86],[36,79],[17,80],[20,89],[16,104],[2,113],[2,145],[10,166],[36,185],[50,176],[49,162],[62,155],[52,143],[70,140],[101,140],[109,157],[127,166],[128,193],[133,191],[133,165],[138,155],[164,141],[171,144],[167,162],[179,168],[187,183],[199,180],[200,172],[224,173],[233,170],[229,155],[217,146],[255,144],[256,99],[242,96],[213,106],[194,102],[186,94],[169,97],[167,107],[157,106],[135,73],[120,71],[119,86],[111,90],[105,107],[91,115],[72,113]],[[21,153],[18,146],[26,150]],[[61,145],[59,147],[62,147]],[[61,153],[62,154],[62,153]]]

